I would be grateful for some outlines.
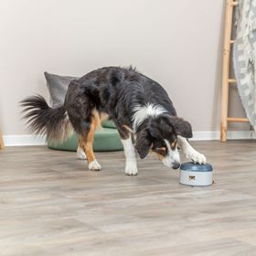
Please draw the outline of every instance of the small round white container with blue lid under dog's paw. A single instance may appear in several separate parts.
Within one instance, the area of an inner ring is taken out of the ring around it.
[[[212,165],[187,162],[180,165],[179,182],[188,186],[212,185]]]

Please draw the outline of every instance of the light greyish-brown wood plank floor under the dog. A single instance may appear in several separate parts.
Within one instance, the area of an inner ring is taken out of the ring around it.
[[[256,255],[256,142],[193,143],[212,187],[186,187],[154,156],[124,176],[44,146],[0,151],[0,255]],[[185,159],[183,159],[185,160]]]

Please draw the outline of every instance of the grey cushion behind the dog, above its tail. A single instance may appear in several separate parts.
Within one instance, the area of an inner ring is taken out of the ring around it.
[[[53,108],[58,108],[63,105],[70,81],[78,78],[58,76],[49,74],[48,72],[45,72],[44,74],[47,80],[50,105]]]

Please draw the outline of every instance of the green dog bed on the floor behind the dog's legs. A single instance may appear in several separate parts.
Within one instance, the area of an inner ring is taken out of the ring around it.
[[[48,143],[48,147],[56,150],[77,151],[78,135],[73,133],[68,140],[61,144]],[[119,133],[113,128],[101,128],[94,134],[93,150],[98,152],[120,151],[123,145]]]

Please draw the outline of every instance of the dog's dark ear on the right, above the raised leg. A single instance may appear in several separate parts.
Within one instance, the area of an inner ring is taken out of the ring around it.
[[[192,138],[193,134],[191,124],[187,121],[176,116],[170,116],[168,117],[168,123],[172,126],[177,135],[185,138]]]

